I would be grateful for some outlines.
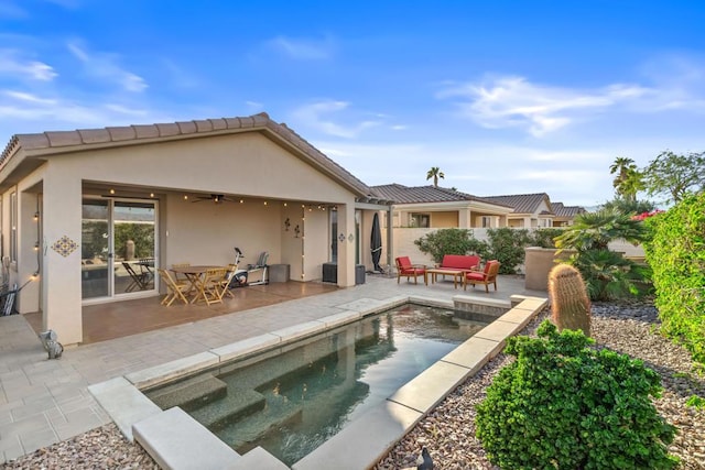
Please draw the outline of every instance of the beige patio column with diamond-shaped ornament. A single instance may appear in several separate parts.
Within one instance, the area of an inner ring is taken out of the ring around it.
[[[52,171],[54,170],[54,171]],[[83,341],[80,297],[82,182],[51,165],[42,199],[42,325],[64,345]]]

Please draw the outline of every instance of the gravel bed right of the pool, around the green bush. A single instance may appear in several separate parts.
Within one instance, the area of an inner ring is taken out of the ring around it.
[[[535,336],[547,314],[535,318],[522,335]],[[655,406],[677,427],[669,451],[681,459],[679,468],[705,469],[705,411],[685,405],[691,395],[705,397],[705,378],[702,371],[697,375],[683,348],[654,334],[658,323],[657,309],[650,304],[593,305],[592,335],[597,345],[642,359],[661,375],[664,392]],[[397,444],[376,470],[412,467],[424,446],[437,469],[498,469],[475,437],[475,405],[485,398],[495,374],[511,360],[499,354],[460,385]]]

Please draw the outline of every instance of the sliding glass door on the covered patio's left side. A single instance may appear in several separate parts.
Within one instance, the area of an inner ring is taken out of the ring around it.
[[[83,298],[152,292],[156,252],[156,203],[83,201]]]

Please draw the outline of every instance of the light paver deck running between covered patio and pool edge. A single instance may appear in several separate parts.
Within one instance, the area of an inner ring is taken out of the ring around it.
[[[0,317],[2,461],[110,423],[110,415],[88,391],[89,385],[105,386],[104,382],[127,381],[126,376],[135,379],[135,374],[152,368],[218,348],[223,354],[235,353],[227,350],[229,345],[324,317],[335,321],[346,311],[371,313],[394,297],[419,297],[441,305],[452,303],[457,295],[505,302],[514,294],[545,297],[543,292],[524,289],[521,277],[500,276],[498,284],[497,293],[486,294],[480,289],[455,289],[452,282],[424,286],[397,284],[395,277],[368,276],[366,284],[328,294],[67,349],[62,359],[52,361],[22,316]],[[124,405],[131,408],[132,403]],[[242,463],[249,458],[253,456],[242,458]]]

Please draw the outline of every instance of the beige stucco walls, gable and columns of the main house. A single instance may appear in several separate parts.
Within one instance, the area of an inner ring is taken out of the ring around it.
[[[35,270],[32,256],[35,256],[36,231],[31,220],[36,195],[23,198],[21,189],[39,184],[43,217],[42,276],[23,291],[21,305],[25,311],[41,306],[44,327],[56,330],[65,345],[83,339],[80,250],[63,256],[52,245],[62,237],[80,243],[86,183],[115,186],[116,197],[124,190],[155,194],[160,226],[158,262],[165,266],[184,261],[225,264],[235,259],[237,245],[247,255],[243,263],[253,263],[261,251],[269,251],[269,263],[290,264],[292,278],[301,281],[302,270],[303,281],[319,278],[321,264],[328,260],[329,253],[327,212],[306,216],[306,239],[294,240],[293,231],[285,232],[283,221],[290,214],[293,221],[295,209],[289,206],[285,209],[284,201],[295,201],[299,207],[302,203],[335,204],[339,230],[354,233],[355,195],[259,133],[52,155],[19,184],[21,225],[18,232],[22,245],[15,277],[21,280]],[[183,199],[183,194],[195,192],[237,195],[238,199],[243,195],[245,203],[193,204]],[[2,199],[6,234],[9,233],[8,194]],[[338,285],[355,284],[354,247],[347,238],[339,247]],[[6,236],[6,253],[8,248]]]

